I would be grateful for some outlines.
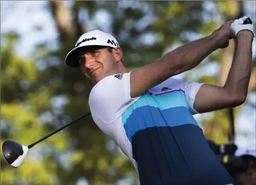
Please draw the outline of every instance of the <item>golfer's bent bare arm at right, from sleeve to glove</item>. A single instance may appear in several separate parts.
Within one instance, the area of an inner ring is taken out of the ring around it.
[[[224,87],[201,86],[194,103],[197,112],[236,107],[245,102],[251,75],[252,42],[252,31],[243,30],[236,35],[235,53]]]

